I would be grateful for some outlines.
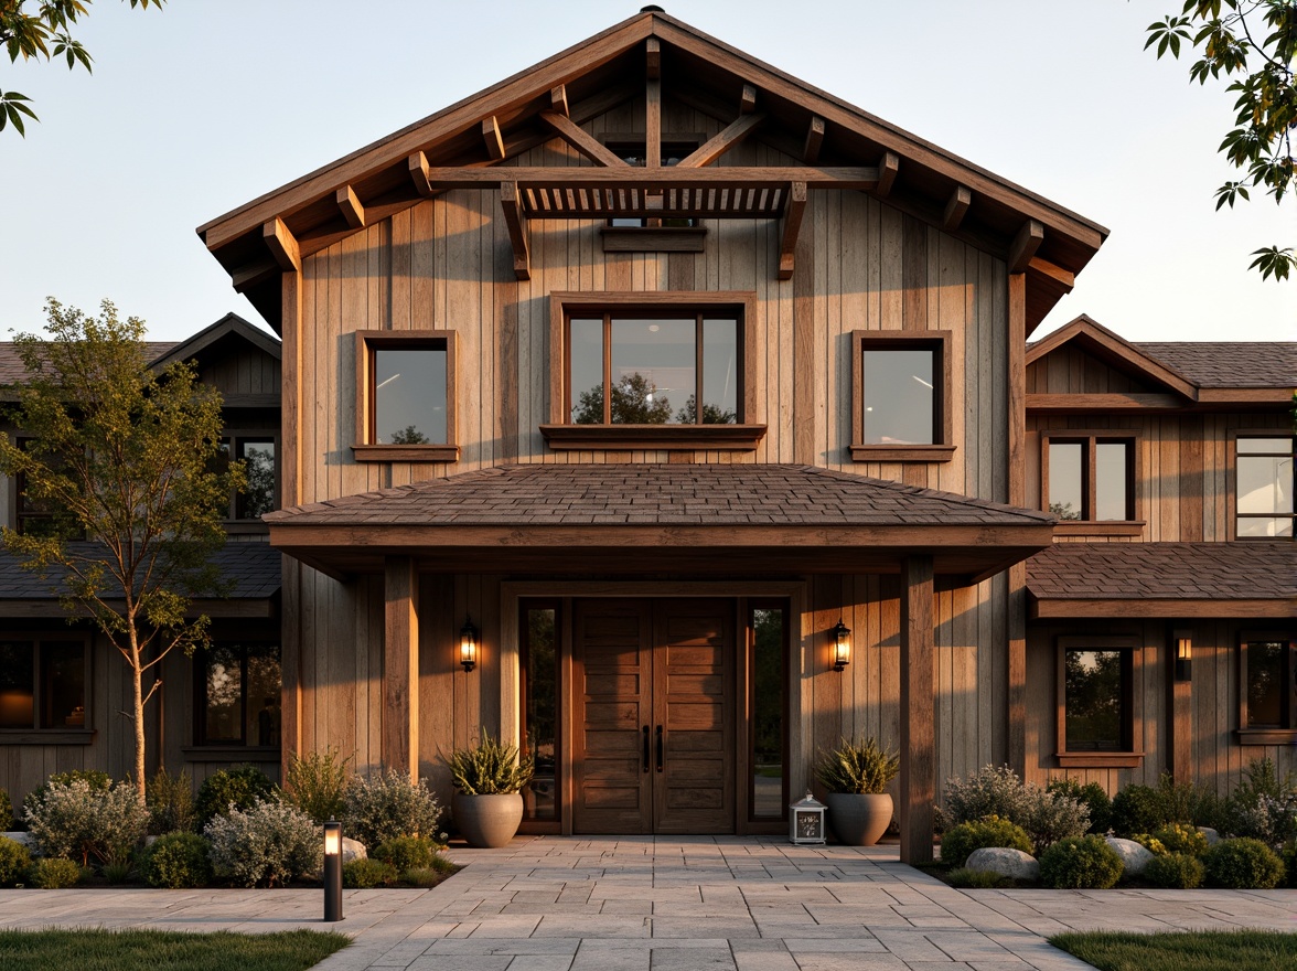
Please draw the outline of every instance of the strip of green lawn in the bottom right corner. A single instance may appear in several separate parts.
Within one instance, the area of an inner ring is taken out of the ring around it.
[[[1280,971],[1297,968],[1297,933],[1061,933],[1049,942],[1100,971]]]

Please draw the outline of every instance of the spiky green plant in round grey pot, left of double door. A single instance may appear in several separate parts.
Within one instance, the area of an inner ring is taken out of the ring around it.
[[[446,759],[455,787],[451,807],[470,846],[505,846],[523,822],[521,789],[532,780],[532,757],[519,758],[516,745],[492,739],[455,749]]]

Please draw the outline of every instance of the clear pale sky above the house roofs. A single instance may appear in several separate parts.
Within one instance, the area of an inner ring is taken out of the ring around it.
[[[47,295],[176,339],[261,322],[195,227],[536,64],[641,0],[99,0],[95,73],[0,62],[0,336]],[[1179,0],[660,0],[667,12],[1112,230],[1038,331],[1297,340],[1297,282],[1246,269],[1297,204],[1213,210],[1231,99],[1141,51]]]

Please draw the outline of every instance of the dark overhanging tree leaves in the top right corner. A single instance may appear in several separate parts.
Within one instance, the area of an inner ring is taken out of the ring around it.
[[[1183,47],[1198,53],[1189,80],[1230,80],[1235,121],[1218,149],[1244,178],[1215,192],[1217,209],[1248,200],[1249,187],[1262,187],[1275,203],[1297,187],[1293,130],[1297,129],[1297,0],[1185,0],[1180,16],[1148,26],[1144,48],[1179,58]],[[1287,279],[1297,269],[1292,247],[1265,247],[1252,253],[1249,269],[1262,279]]]

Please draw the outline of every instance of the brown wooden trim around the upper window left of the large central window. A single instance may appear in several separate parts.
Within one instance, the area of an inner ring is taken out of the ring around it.
[[[446,441],[374,444],[374,352],[427,350],[437,343],[444,343],[446,350]],[[455,401],[455,331],[355,331],[355,444],[351,454],[357,462],[458,462]]]

